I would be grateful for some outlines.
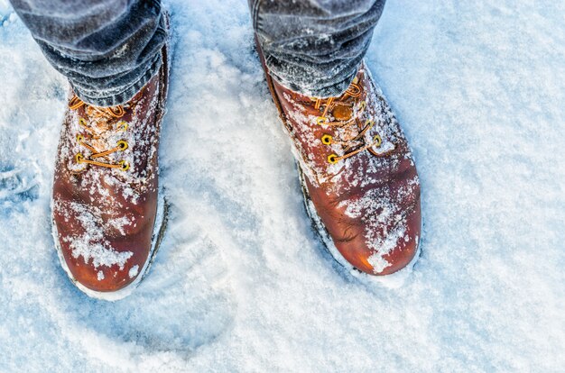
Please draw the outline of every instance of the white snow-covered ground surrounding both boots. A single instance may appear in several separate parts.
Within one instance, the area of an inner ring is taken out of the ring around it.
[[[169,0],[171,226],[116,303],[60,268],[67,84],[0,0],[0,371],[565,370],[565,2],[390,0],[367,55],[412,142],[422,257],[336,271],[302,207],[245,0]]]

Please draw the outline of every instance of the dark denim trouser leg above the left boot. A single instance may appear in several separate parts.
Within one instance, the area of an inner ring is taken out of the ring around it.
[[[45,57],[88,104],[124,104],[161,67],[159,1],[11,1]]]

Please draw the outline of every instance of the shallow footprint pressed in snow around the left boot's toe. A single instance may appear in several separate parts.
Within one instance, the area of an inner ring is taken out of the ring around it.
[[[172,206],[170,225],[155,262],[131,296],[116,303],[89,299],[67,283],[69,315],[101,335],[108,352],[116,347],[140,356],[174,353],[190,359],[200,346],[229,331],[236,314],[228,270],[218,245]],[[73,309],[76,308],[76,309]],[[107,344],[107,341],[111,343]],[[87,341],[85,341],[86,343]]]

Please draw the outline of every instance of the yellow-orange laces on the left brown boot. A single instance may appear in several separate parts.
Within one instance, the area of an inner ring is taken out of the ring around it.
[[[86,163],[94,166],[104,167],[104,168],[118,168],[123,171],[129,169],[129,164],[125,160],[120,160],[117,163],[112,163],[111,159],[108,157],[110,154],[115,153],[116,151],[125,151],[129,145],[127,141],[120,140],[116,142],[116,147],[108,150],[98,151],[92,145],[90,145],[87,141],[96,141],[102,137],[102,133],[106,131],[116,131],[116,132],[125,132],[128,127],[128,123],[124,121],[116,121],[124,116],[125,109],[123,105],[117,105],[114,107],[97,107],[93,105],[87,105],[84,101],[80,100],[79,97],[73,96],[69,101],[69,109],[70,110],[77,110],[79,107],[85,106],[85,113],[87,114],[87,118],[79,118],[79,124],[82,128],[84,128],[88,132],[88,138],[85,137],[83,134],[77,135],[77,141],[79,144],[86,149],[90,150],[92,154],[90,154],[89,158],[85,158],[81,153],[77,153],[75,155],[75,160],[77,163]],[[103,126],[106,128],[103,129],[102,132],[96,132],[96,130],[91,126],[92,123],[96,123],[99,126],[102,123]],[[112,123],[114,122],[114,123]],[[102,162],[96,159],[105,159],[107,162]],[[82,169],[84,170],[84,169]],[[81,172],[80,170],[79,172]]]

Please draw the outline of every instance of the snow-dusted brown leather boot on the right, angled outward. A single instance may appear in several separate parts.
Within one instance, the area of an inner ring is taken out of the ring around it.
[[[264,70],[294,144],[307,211],[329,252],[370,275],[407,266],[421,235],[420,181],[366,66],[342,96],[329,98],[292,92]]]

